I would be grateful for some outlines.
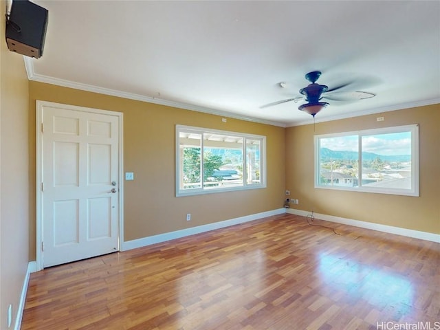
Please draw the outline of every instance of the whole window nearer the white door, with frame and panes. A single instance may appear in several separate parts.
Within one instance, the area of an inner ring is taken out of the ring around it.
[[[264,188],[265,142],[261,135],[176,125],[176,196]]]

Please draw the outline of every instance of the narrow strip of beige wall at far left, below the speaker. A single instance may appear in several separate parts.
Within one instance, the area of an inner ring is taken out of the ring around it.
[[[8,51],[0,1],[0,329],[17,315],[29,256],[28,78],[23,56]],[[12,328],[11,328],[12,329]]]

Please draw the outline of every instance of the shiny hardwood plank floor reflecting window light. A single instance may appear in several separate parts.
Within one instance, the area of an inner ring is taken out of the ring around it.
[[[340,235],[282,214],[36,272],[21,329],[440,329],[440,243],[314,223]]]

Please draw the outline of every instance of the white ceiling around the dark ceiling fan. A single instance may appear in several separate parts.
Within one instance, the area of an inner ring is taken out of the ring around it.
[[[279,126],[313,121],[307,72],[374,98],[316,122],[440,103],[440,1],[43,1],[30,80]],[[279,83],[286,83],[281,88]]]

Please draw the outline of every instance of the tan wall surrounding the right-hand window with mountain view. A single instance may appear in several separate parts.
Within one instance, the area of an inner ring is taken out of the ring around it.
[[[384,122],[376,117],[383,116]],[[314,135],[419,124],[420,197],[314,188]],[[440,104],[286,130],[286,189],[296,208],[423,232],[440,233]]]

